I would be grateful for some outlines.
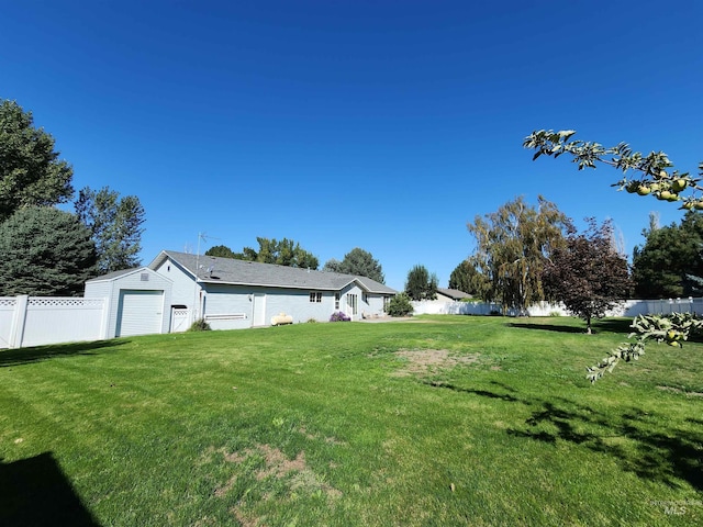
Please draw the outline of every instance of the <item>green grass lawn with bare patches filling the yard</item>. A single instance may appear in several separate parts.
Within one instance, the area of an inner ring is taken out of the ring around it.
[[[703,525],[703,345],[651,345],[591,385],[628,322],[0,351],[0,525]]]

